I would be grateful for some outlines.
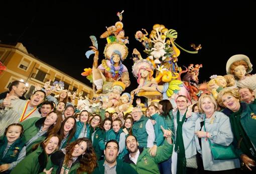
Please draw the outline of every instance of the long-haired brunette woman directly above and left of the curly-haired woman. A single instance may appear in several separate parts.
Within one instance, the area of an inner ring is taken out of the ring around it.
[[[59,135],[61,137],[60,149],[65,148],[69,143],[75,140],[76,118],[74,116],[66,117],[60,127]]]

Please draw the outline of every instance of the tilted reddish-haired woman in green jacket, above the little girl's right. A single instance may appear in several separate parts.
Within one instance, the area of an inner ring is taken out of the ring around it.
[[[42,142],[48,134],[57,133],[62,122],[60,112],[51,111],[46,117],[34,117],[23,121],[22,140],[26,144],[27,155],[32,152],[34,144]]]

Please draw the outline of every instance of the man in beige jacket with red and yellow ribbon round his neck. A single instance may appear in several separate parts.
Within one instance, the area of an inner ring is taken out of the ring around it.
[[[29,100],[16,99],[7,95],[0,105],[0,136],[5,128],[12,123],[22,122],[27,118],[40,117],[37,106],[45,99],[45,92],[37,90]]]

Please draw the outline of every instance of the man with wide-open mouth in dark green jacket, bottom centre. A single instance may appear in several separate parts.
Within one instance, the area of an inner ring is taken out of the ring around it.
[[[116,140],[107,141],[104,149],[105,160],[99,160],[93,174],[136,174],[137,171],[128,163],[116,159],[119,145]]]

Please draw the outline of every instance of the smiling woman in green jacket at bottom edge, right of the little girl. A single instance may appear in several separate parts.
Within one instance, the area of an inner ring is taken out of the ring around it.
[[[59,135],[55,133],[49,135],[35,151],[16,165],[11,174],[36,174],[42,172],[47,164],[48,156],[58,149],[59,145]]]

